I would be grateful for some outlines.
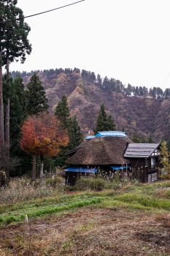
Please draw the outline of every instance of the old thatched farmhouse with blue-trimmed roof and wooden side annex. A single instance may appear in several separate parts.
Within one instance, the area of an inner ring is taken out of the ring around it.
[[[160,144],[133,143],[124,132],[98,132],[88,136],[68,153],[66,184],[74,185],[81,175],[104,173],[114,178],[131,176],[142,182],[158,179]]]

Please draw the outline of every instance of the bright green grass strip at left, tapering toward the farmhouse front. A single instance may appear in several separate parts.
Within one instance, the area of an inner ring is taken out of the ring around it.
[[[10,209],[9,211],[4,211],[3,214],[0,214],[0,224],[9,224],[12,222],[21,222],[26,218],[31,217],[41,217],[45,214],[53,214],[61,211],[69,211],[74,208],[80,208],[84,206],[90,206],[97,203],[101,203],[101,200],[104,200],[104,197],[94,197],[94,195],[85,194],[85,195],[71,195],[64,196],[61,198],[53,198],[51,200],[38,200],[36,203],[26,204],[18,203],[18,206]],[[12,211],[11,211],[12,210]]]

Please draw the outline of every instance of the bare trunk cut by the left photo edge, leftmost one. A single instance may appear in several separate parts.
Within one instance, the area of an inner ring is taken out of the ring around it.
[[[0,52],[0,152],[4,149],[4,103],[2,84],[2,59]]]

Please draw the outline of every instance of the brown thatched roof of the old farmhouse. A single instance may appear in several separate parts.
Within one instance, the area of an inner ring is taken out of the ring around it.
[[[123,153],[127,143],[133,143],[128,138],[94,138],[83,143],[82,147],[67,160],[69,165],[125,165],[127,159]]]

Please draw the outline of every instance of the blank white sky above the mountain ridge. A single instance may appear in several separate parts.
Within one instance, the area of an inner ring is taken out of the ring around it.
[[[18,0],[18,7],[30,15],[73,1]],[[11,69],[78,67],[125,84],[168,88],[169,10],[169,0],[85,0],[28,18],[33,50]]]

